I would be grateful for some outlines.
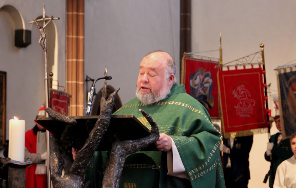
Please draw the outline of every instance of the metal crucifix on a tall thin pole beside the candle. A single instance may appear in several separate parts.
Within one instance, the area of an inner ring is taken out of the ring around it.
[[[52,20],[59,20],[59,17],[45,17],[45,4],[43,3],[43,16],[40,19],[34,19],[30,21],[29,24],[36,23],[37,28],[40,31],[40,38],[39,38],[39,45],[42,47],[44,52],[44,68],[45,68],[45,77],[44,77],[44,88],[45,88],[45,107],[48,108],[48,73],[47,73],[47,51],[46,51],[46,29],[45,27],[48,25],[49,22]],[[43,22],[43,25],[39,25],[38,22]],[[48,117],[48,114],[46,114]],[[46,149],[47,149],[47,187],[51,187],[50,183],[50,171],[49,171],[49,131],[46,131]]]

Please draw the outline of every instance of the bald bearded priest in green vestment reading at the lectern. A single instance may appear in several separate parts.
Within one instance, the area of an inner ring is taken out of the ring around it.
[[[202,104],[176,83],[175,74],[176,64],[168,53],[149,53],[140,62],[137,97],[114,113],[133,114],[151,128],[139,112],[143,109],[160,132],[158,151],[126,156],[120,187],[225,187],[219,154],[222,136]],[[96,182],[104,176],[107,157],[106,152],[96,156]]]

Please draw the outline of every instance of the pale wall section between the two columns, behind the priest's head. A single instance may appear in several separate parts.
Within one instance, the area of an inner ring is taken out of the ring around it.
[[[85,1],[84,72],[97,79],[107,67],[112,76],[107,83],[120,87],[122,103],[135,97],[140,61],[148,52],[168,52],[177,63],[180,80],[179,43],[177,0]],[[98,81],[96,91],[103,85],[103,80]]]

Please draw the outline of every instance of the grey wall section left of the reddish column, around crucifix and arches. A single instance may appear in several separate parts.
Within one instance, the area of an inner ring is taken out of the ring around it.
[[[43,2],[46,16],[60,17],[60,20],[54,21],[59,37],[56,76],[59,76],[61,85],[65,83],[65,1],[0,1],[0,8],[4,5],[15,7],[23,16],[25,28],[32,32],[31,44],[28,47],[15,47],[15,26],[8,13],[0,11],[0,71],[7,72],[7,139],[9,119],[17,116],[26,121],[26,130],[31,129],[37,111],[45,100],[44,56],[38,44],[40,32],[35,24],[28,24],[33,18],[42,16]]]

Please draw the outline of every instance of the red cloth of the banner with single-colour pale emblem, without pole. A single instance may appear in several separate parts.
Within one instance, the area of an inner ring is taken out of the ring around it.
[[[219,71],[225,132],[268,127],[261,68]]]

